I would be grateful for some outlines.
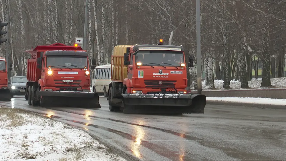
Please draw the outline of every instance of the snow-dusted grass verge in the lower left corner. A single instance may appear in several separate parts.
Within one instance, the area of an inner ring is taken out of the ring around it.
[[[0,160],[117,160],[86,132],[50,118],[0,107]]]

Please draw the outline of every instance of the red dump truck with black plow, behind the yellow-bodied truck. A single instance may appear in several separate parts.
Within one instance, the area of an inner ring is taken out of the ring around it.
[[[88,53],[61,43],[40,45],[26,52],[26,100],[32,106],[100,108],[97,93],[90,92]]]

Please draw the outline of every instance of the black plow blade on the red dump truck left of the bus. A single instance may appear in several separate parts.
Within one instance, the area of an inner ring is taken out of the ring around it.
[[[42,107],[101,108],[94,92],[37,91]]]

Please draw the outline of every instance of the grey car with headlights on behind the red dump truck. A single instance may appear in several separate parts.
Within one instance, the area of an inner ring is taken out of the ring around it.
[[[13,96],[24,96],[27,82],[27,78],[23,76],[10,77],[8,88],[10,88],[11,98]]]

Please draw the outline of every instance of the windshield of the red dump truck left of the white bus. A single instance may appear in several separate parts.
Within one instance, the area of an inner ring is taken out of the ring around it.
[[[51,68],[84,68],[85,66],[88,66],[87,60],[87,57],[84,56],[47,56],[47,67],[51,66]]]

